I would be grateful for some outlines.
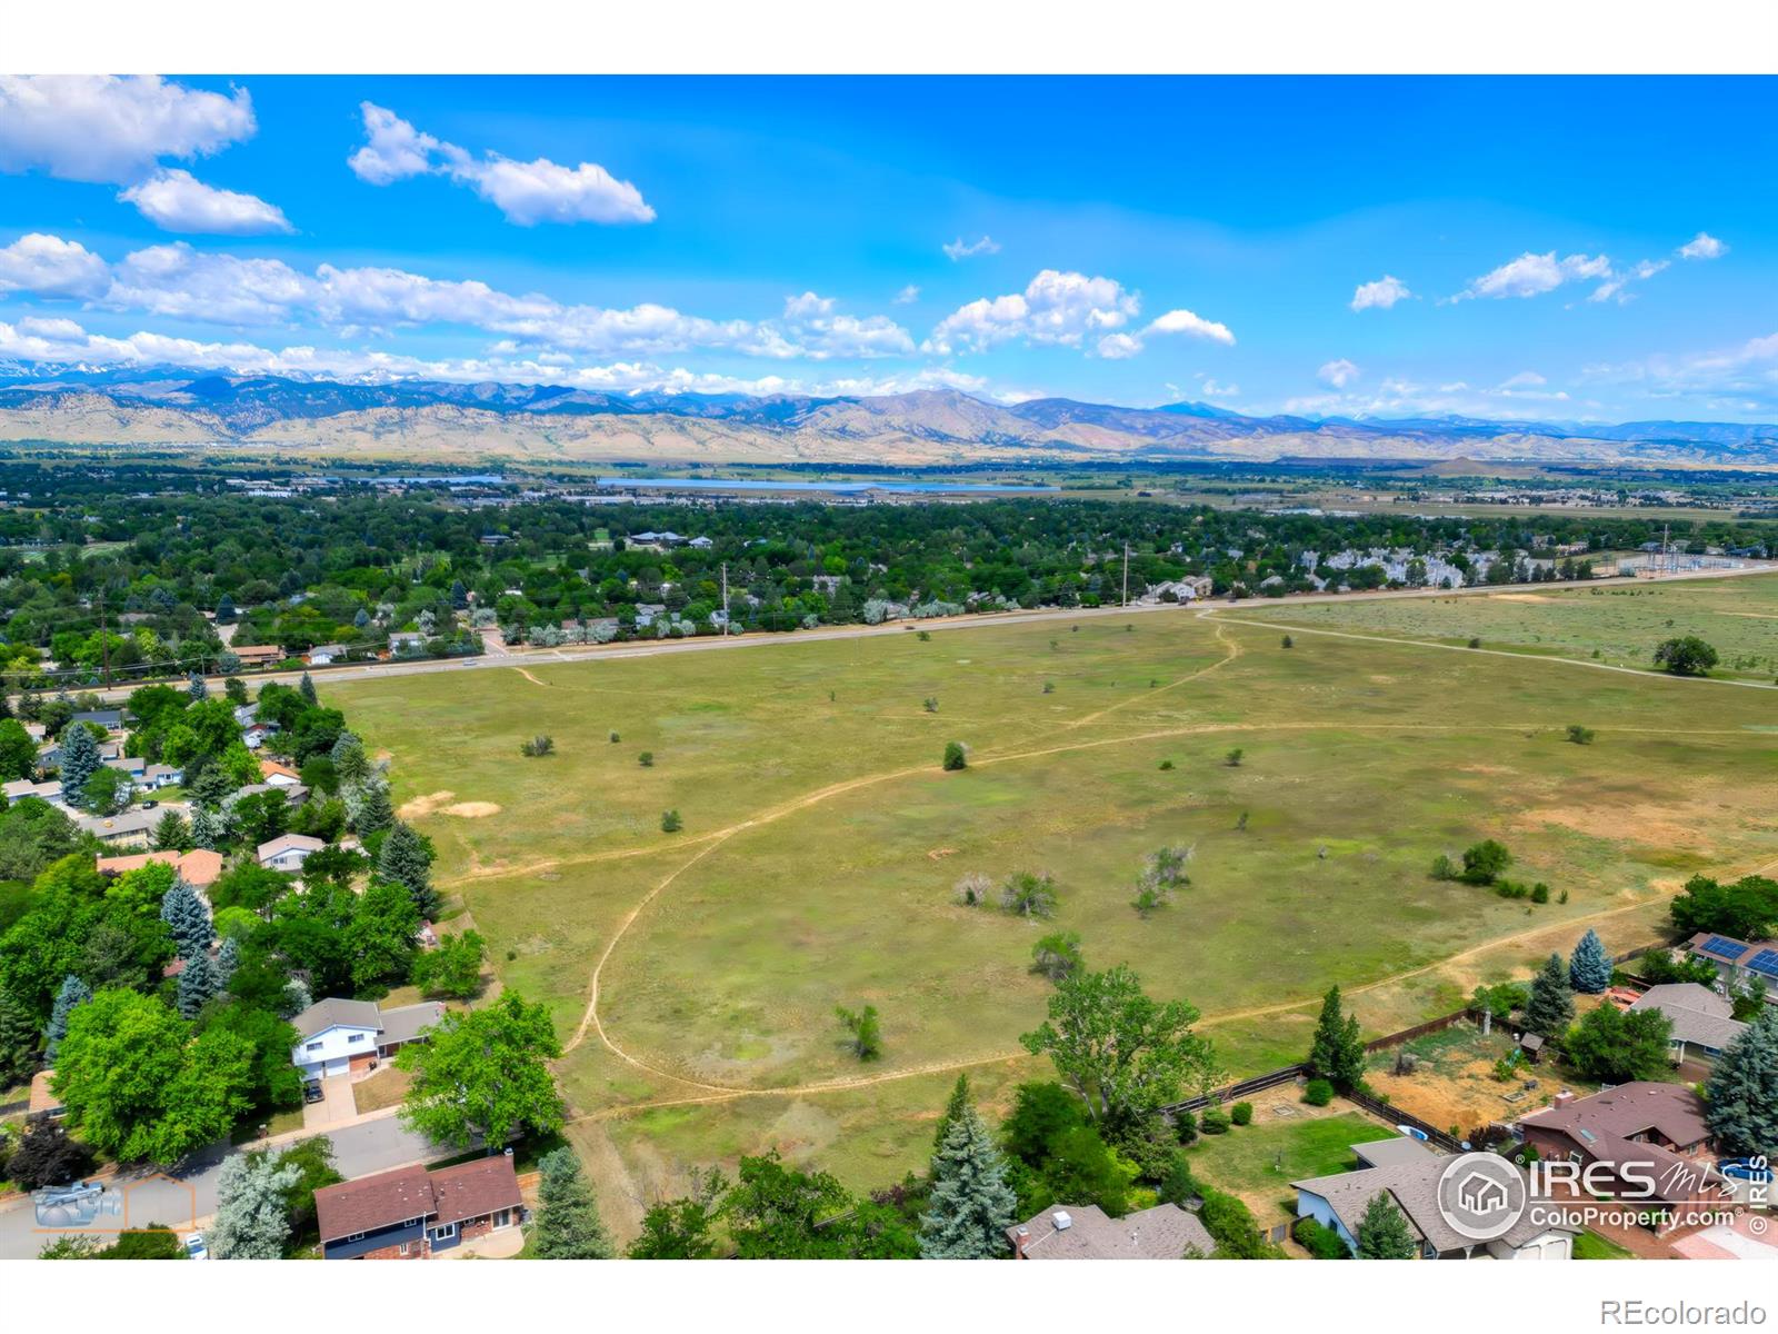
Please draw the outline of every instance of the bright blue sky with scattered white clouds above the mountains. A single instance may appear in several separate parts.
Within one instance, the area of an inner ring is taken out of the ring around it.
[[[0,361],[1778,416],[1773,80],[0,80]]]

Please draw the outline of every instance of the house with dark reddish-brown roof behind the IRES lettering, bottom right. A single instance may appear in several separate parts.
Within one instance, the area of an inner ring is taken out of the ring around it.
[[[1518,1131],[1543,1158],[1597,1163],[1588,1181],[1595,1192],[1650,1208],[1709,1206],[1723,1195],[1703,1099],[1684,1085],[1638,1080],[1591,1097],[1563,1089],[1550,1106],[1520,1117]]]

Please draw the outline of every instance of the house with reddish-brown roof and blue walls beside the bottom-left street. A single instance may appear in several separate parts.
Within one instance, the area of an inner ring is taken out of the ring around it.
[[[315,1192],[322,1259],[430,1259],[525,1217],[512,1158],[393,1172]]]

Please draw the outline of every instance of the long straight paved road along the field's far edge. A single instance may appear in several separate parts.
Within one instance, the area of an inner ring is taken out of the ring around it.
[[[1659,583],[1671,583],[1675,580],[1710,580],[1710,578],[1737,578],[1744,575],[1771,575],[1778,573],[1778,560],[1753,562],[1744,569],[1698,569],[1686,571],[1680,575],[1666,575]],[[1638,578],[1602,578],[1593,580],[1586,587],[1613,587],[1613,585],[1646,585],[1650,580]],[[363,681],[363,679],[382,679],[388,676],[430,676],[434,672],[473,672],[487,669],[517,669],[517,667],[535,667],[539,663],[558,663],[558,662],[590,662],[601,658],[653,658],[663,653],[720,653],[724,649],[761,649],[772,647],[775,644],[809,644],[813,640],[829,639],[873,639],[877,635],[903,635],[909,630],[969,630],[974,626],[1017,626],[1029,624],[1033,621],[1088,621],[1102,617],[1129,617],[1145,615],[1154,612],[1186,612],[1202,610],[1205,607],[1214,608],[1250,608],[1250,607],[1269,607],[1269,608],[1289,608],[1303,607],[1312,603],[1351,603],[1351,601],[1378,601],[1385,598],[1486,598],[1499,592],[1522,592],[1533,589],[1536,592],[1554,592],[1558,589],[1574,589],[1575,583],[1499,583],[1499,585],[1478,585],[1470,589],[1399,589],[1399,591],[1376,591],[1376,592],[1310,592],[1296,594],[1291,598],[1243,598],[1239,601],[1229,601],[1225,598],[1205,599],[1197,603],[1156,603],[1156,605],[1131,605],[1131,607],[1056,607],[1035,612],[981,612],[974,615],[948,615],[932,617],[928,621],[893,621],[880,626],[823,626],[820,630],[793,630],[786,633],[752,633],[752,635],[708,635],[702,639],[665,639],[665,640],[647,640],[647,642],[628,642],[628,644],[569,644],[558,649],[510,649],[507,653],[489,653],[480,658],[423,658],[420,662],[377,662],[377,663],[359,663],[359,665],[341,665],[341,667],[316,667],[311,676],[318,685],[327,685],[331,681]],[[220,690],[226,678],[212,676],[210,687]],[[295,685],[302,679],[302,672],[256,672],[252,676],[242,678],[252,685],[263,685],[265,681],[281,681],[284,685]],[[108,701],[128,699],[135,685],[117,687],[114,690],[98,690],[96,694]]]

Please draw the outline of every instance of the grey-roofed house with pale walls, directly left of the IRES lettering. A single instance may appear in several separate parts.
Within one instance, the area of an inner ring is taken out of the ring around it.
[[[1296,1217],[1332,1227],[1353,1254],[1358,1254],[1364,1211],[1373,1199],[1387,1195],[1408,1220],[1419,1259],[1574,1259],[1574,1238],[1581,1229],[1542,1222],[1538,1209],[1526,1209],[1504,1236],[1492,1242],[1476,1242],[1451,1227],[1438,1208],[1438,1181],[1451,1158],[1410,1149],[1362,1147],[1371,1149],[1383,1163],[1291,1183],[1296,1190]],[[1529,1192],[1529,1179],[1526,1188]]]

